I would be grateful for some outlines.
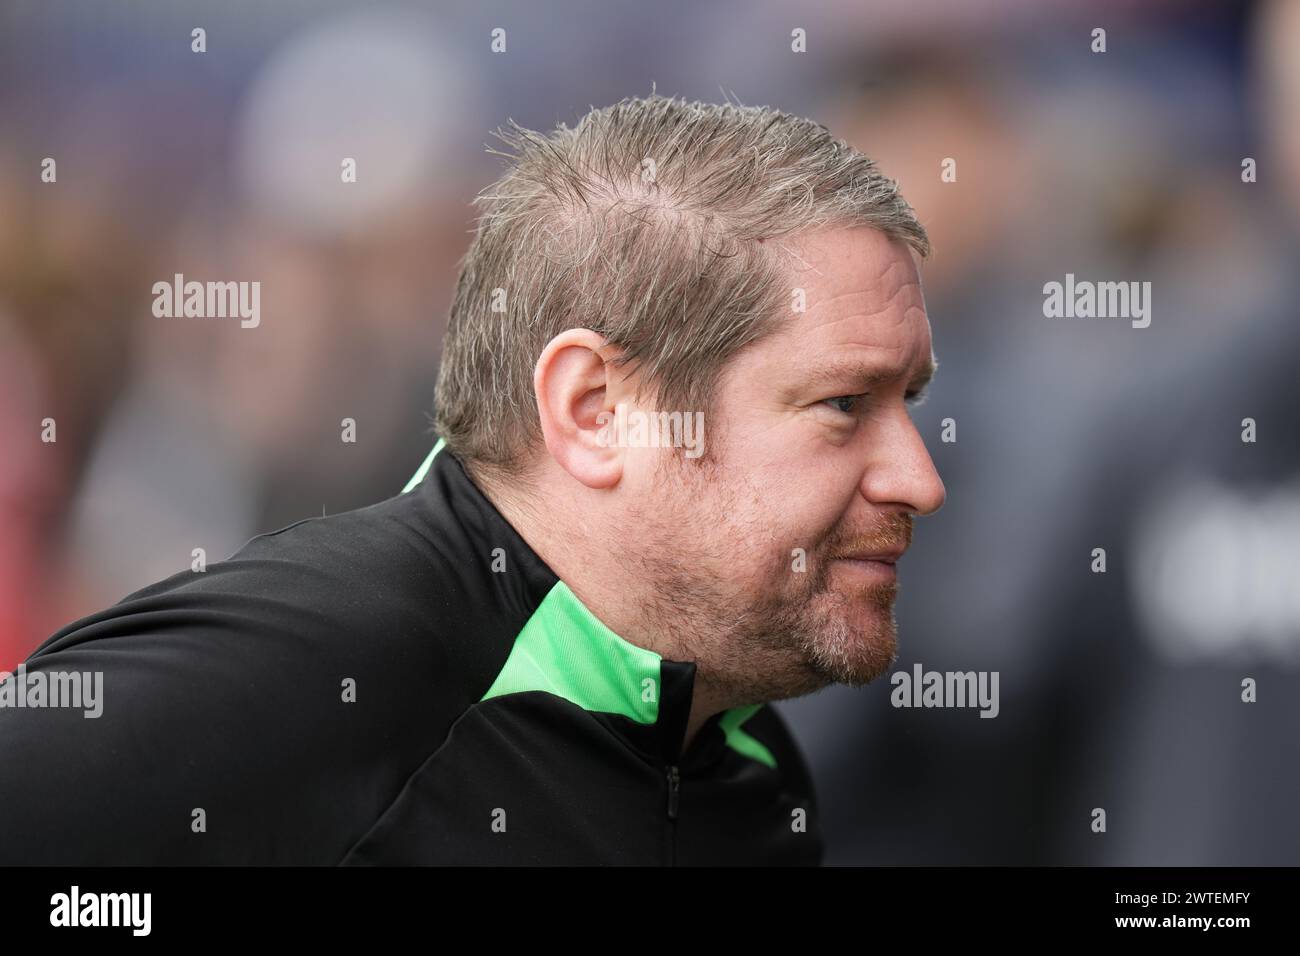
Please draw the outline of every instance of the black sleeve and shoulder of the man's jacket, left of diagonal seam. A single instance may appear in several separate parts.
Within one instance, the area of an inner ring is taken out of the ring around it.
[[[0,860],[341,860],[491,687],[529,613],[510,600],[523,575],[476,557],[494,535],[437,503],[303,519],[55,633],[23,680],[84,675],[100,713],[0,709],[0,761],[42,779],[0,787],[27,826]],[[78,778],[101,793],[88,809]],[[195,806],[217,836],[194,838]]]

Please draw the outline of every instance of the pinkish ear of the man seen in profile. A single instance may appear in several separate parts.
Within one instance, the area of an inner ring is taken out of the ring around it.
[[[624,450],[607,441],[618,399],[610,354],[603,336],[568,329],[547,342],[533,369],[546,450],[588,488],[612,488],[623,477]]]

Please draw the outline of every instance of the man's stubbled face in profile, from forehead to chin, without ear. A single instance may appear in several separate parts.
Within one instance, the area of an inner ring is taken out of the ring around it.
[[[888,671],[890,562],[911,516],[944,502],[907,410],[932,372],[907,247],[862,228],[786,247],[806,311],[727,367],[707,460],[646,450],[633,477],[644,623],[711,680],[770,698]]]

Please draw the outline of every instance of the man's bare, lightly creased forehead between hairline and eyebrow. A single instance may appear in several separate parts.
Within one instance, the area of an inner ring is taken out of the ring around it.
[[[931,358],[930,320],[914,254],[868,228],[822,230],[785,243],[790,321],[770,338],[774,358],[862,359],[900,375]],[[802,291],[802,295],[800,294]]]

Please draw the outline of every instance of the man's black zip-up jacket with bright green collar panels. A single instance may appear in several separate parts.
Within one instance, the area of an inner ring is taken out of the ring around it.
[[[4,682],[0,864],[819,864],[772,708],[681,753],[694,663],[606,628],[439,449],[38,648],[29,688],[99,671],[103,713]]]

